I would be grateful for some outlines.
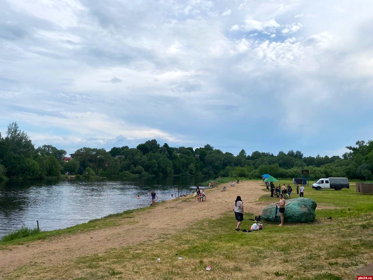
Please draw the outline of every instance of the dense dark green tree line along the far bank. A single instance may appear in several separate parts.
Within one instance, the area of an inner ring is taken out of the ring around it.
[[[51,145],[35,148],[29,136],[16,122],[9,124],[6,136],[0,133],[0,180],[37,179],[59,176],[65,172],[86,176],[98,175],[220,175],[222,177],[260,178],[269,173],[276,178],[297,178],[301,169],[310,170],[310,179],[348,177],[372,180],[373,141],[357,141],[340,156],[303,156],[300,151],[280,151],[277,155],[255,151],[247,155],[223,153],[210,144],[192,147],[162,146],[148,140],[136,148],[128,146],[105,149],[83,147],[64,162],[65,150]]]

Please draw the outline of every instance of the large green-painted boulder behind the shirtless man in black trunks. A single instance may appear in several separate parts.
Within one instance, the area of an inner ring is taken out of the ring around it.
[[[288,204],[289,205],[286,205]],[[316,218],[316,202],[310,198],[298,197],[286,200],[284,222],[308,223]],[[266,221],[280,222],[280,211],[277,209],[277,218],[275,219],[275,203],[264,207],[261,218]]]

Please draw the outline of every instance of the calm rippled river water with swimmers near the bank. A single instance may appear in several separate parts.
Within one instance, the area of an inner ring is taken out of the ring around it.
[[[0,236],[26,225],[42,230],[70,227],[95,218],[149,206],[148,192],[156,201],[172,199],[174,187],[191,193],[208,177],[8,181],[0,183]],[[176,191],[177,193],[177,191]],[[137,199],[140,195],[140,199]]]

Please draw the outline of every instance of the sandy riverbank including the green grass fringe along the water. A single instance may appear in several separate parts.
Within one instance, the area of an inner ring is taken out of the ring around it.
[[[56,232],[51,231],[41,240],[22,240],[18,242],[22,243],[19,245],[8,243],[7,248],[0,251],[0,262],[9,269],[14,269],[27,264],[31,259],[56,263],[92,252],[100,253],[110,248],[155,240],[164,234],[176,233],[193,223],[195,218],[190,213],[206,212],[207,218],[218,218],[231,210],[234,201],[232,197],[241,195],[242,199],[251,204],[256,203],[260,195],[265,193],[261,190],[263,187],[260,181],[245,181],[235,187],[226,183],[220,187],[224,185],[226,192],[220,192],[217,187],[207,189],[207,199],[204,202],[196,203],[192,195],[165,200],[157,203],[155,207],[147,206],[126,213],[112,214],[104,219],[60,230],[60,233],[54,235],[52,234]],[[247,187],[250,187],[255,195],[250,195]],[[261,213],[264,204],[253,204],[250,211]],[[65,248],[70,249],[66,251]],[[54,252],[53,255],[50,255],[50,252]],[[4,271],[0,271],[0,275],[1,273]]]

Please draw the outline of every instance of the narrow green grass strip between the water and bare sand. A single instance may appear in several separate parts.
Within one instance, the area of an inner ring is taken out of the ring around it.
[[[50,230],[50,231],[41,231],[22,227],[19,230],[16,230],[8,235],[4,236],[0,240],[0,250],[7,249],[9,245],[22,245],[25,242],[30,242],[40,239],[48,239],[54,236],[76,234],[81,232],[87,232],[92,230],[98,230],[108,227],[116,227],[123,223],[134,223],[130,218],[133,218],[135,212],[141,212],[149,209],[150,207],[127,210],[120,213],[110,214],[101,219],[90,220],[87,223],[82,223],[74,225],[72,227]]]

